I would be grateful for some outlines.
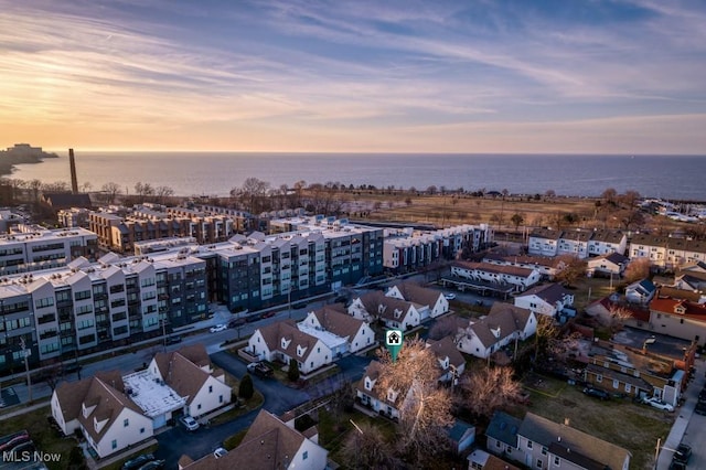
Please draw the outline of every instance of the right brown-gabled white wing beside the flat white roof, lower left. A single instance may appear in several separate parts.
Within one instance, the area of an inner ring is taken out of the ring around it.
[[[148,371],[185,399],[186,415],[202,416],[231,403],[225,374],[212,367],[203,344],[158,353]]]

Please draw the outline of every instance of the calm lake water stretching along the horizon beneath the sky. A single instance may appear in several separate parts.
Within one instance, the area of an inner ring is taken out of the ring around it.
[[[67,152],[39,164],[18,165],[12,178],[71,181]],[[560,154],[236,153],[76,151],[78,184],[97,191],[115,182],[135,192],[140,181],[170,186],[175,195],[227,195],[246,178],[274,188],[340,182],[418,190],[430,185],[514,194],[600,195],[618,192],[706,201],[706,157]]]

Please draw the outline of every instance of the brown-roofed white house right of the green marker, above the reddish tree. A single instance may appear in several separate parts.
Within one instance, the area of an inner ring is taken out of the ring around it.
[[[457,348],[467,354],[488,359],[515,340],[526,340],[536,330],[537,319],[531,310],[495,302],[486,317],[474,322],[459,322]]]

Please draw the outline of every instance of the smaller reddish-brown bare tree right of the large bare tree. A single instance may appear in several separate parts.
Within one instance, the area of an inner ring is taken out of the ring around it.
[[[466,403],[481,416],[490,416],[496,408],[520,398],[522,387],[513,377],[512,367],[479,367],[461,381]]]

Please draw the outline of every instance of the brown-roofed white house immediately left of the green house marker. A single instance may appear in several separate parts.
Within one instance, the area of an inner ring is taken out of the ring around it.
[[[307,333],[311,332],[312,335],[321,331],[340,338],[342,341],[334,343],[333,348],[329,344],[333,357],[355,353],[377,344],[375,332],[370,323],[351,317],[345,309],[338,310],[335,306],[324,306],[309,312],[298,328]]]

